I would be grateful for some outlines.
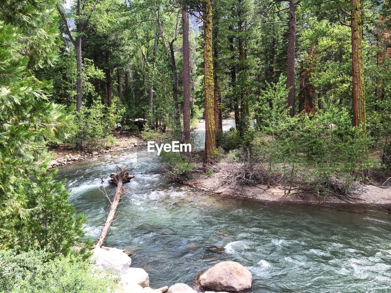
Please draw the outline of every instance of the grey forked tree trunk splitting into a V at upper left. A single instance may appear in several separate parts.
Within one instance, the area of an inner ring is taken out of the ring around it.
[[[68,25],[68,20],[65,17],[65,14],[63,10],[61,9],[60,5],[57,4],[57,10],[59,14],[61,15],[61,18],[64,22],[66,34],[69,37],[69,40],[71,43],[75,46],[76,50],[76,70],[77,70],[77,99],[76,99],[76,111],[80,112],[80,109],[83,105],[83,78],[82,78],[82,70],[83,70],[83,63],[82,63],[82,56],[81,56],[81,39],[86,31],[86,28],[88,26],[88,22],[90,21],[91,15],[95,9],[95,6],[97,5],[99,0],[95,0],[93,2],[92,6],[88,3],[88,0],[77,0],[76,2],[76,13],[75,13],[75,23],[76,23],[76,40],[72,36],[72,32],[70,30],[70,27]],[[83,2],[83,4],[81,3]],[[88,9],[87,7],[91,7]],[[84,14],[86,13],[87,14]]]

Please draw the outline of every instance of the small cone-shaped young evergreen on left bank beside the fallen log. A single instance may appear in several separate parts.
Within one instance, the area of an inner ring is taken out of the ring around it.
[[[38,178],[36,188],[27,194],[27,219],[16,225],[17,247],[23,251],[38,248],[52,255],[68,255],[70,247],[80,241],[85,232],[83,214],[68,201],[70,193],[65,180],[56,182],[57,169]]]

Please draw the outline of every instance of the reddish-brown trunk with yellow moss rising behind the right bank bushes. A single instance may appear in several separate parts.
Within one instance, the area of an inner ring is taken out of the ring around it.
[[[364,59],[362,56],[362,14],[360,0],[351,0],[353,125],[365,128]]]

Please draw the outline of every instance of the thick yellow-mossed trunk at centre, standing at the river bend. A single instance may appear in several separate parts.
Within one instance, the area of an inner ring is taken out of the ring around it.
[[[212,0],[205,0],[204,22],[204,97],[205,97],[205,150],[203,165],[212,164],[217,157],[214,116],[214,84],[212,55]]]

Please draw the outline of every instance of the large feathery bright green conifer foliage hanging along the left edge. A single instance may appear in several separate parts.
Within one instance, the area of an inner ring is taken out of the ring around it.
[[[0,21],[0,239],[25,218],[25,193],[47,168],[47,144],[74,133],[74,107],[48,102],[50,83],[28,69],[21,29]]]

